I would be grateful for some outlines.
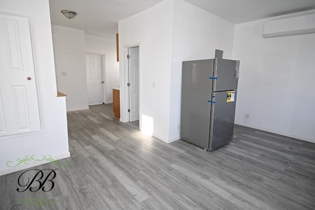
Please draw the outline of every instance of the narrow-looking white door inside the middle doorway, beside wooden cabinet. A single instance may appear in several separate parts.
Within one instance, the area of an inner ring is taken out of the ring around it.
[[[139,47],[129,48],[129,121],[139,120]]]

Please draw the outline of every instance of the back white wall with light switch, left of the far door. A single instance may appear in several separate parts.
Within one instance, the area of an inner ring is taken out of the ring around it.
[[[84,31],[55,25],[52,28],[57,87],[67,95],[67,111],[89,109]]]

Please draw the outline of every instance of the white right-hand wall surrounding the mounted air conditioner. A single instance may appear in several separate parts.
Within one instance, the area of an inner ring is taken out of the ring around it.
[[[266,21],[312,13],[236,25],[233,59],[241,60],[236,123],[315,142],[315,34],[261,35]]]

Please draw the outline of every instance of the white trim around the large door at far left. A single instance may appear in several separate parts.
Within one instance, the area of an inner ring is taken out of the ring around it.
[[[46,132],[46,121],[45,121],[45,115],[44,115],[44,102],[43,102],[43,94],[42,94],[42,84],[40,81],[38,51],[37,51],[37,46],[36,46],[37,38],[36,38],[36,33],[35,33],[36,30],[35,30],[34,18],[33,18],[33,16],[28,16],[26,14],[18,14],[18,13],[14,13],[14,12],[4,12],[1,10],[0,10],[0,14],[17,16],[17,17],[29,19],[30,38],[31,38],[31,45],[32,45],[32,57],[33,57],[33,64],[34,64],[34,75],[35,75],[38,112],[39,112],[39,120],[40,120],[40,131],[1,136],[0,140],[12,139],[12,138],[17,138],[17,137],[21,137],[21,136],[28,136],[28,135]],[[57,87],[57,85],[56,85],[56,87]],[[57,97],[57,89],[56,89],[56,97]]]

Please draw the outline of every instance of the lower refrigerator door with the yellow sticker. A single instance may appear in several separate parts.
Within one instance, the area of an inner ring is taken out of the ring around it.
[[[232,141],[235,118],[236,90],[213,92],[209,150]]]

